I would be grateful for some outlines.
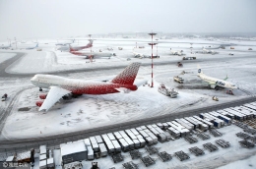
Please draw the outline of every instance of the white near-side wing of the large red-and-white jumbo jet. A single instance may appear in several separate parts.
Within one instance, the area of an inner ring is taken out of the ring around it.
[[[71,91],[61,88],[59,86],[50,86],[50,90],[46,96],[46,99],[43,101],[42,105],[39,108],[39,111],[46,110],[48,111],[53,104],[55,104],[62,96],[71,93]]]

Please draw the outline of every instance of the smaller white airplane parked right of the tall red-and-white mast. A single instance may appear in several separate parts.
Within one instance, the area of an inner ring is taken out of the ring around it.
[[[229,82],[227,82],[227,76],[224,80],[220,80],[217,78],[212,78],[209,76],[206,76],[201,68],[198,68],[198,75],[197,75],[201,80],[203,80],[204,82],[208,83],[211,88],[216,88],[218,89],[219,87],[224,87],[224,88],[229,88],[229,89],[238,89],[237,86],[235,86],[235,84],[231,84]]]

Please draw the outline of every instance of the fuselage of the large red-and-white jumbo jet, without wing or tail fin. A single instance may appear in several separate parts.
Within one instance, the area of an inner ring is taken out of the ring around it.
[[[84,80],[74,80],[52,75],[35,75],[32,84],[41,87],[49,88],[49,86],[59,86],[70,90],[74,94],[107,94],[120,92],[118,88],[127,88],[129,90],[137,90],[137,85],[128,84],[113,84],[101,82],[88,82]]]

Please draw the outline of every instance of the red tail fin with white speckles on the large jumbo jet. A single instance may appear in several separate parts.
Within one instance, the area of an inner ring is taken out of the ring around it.
[[[111,82],[114,84],[132,85],[138,74],[141,63],[134,62],[127,66],[120,74],[118,74]]]

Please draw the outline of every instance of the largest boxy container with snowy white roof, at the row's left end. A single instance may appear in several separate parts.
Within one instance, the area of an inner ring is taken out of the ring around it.
[[[84,141],[61,143],[60,151],[63,164],[88,159],[87,147]]]

